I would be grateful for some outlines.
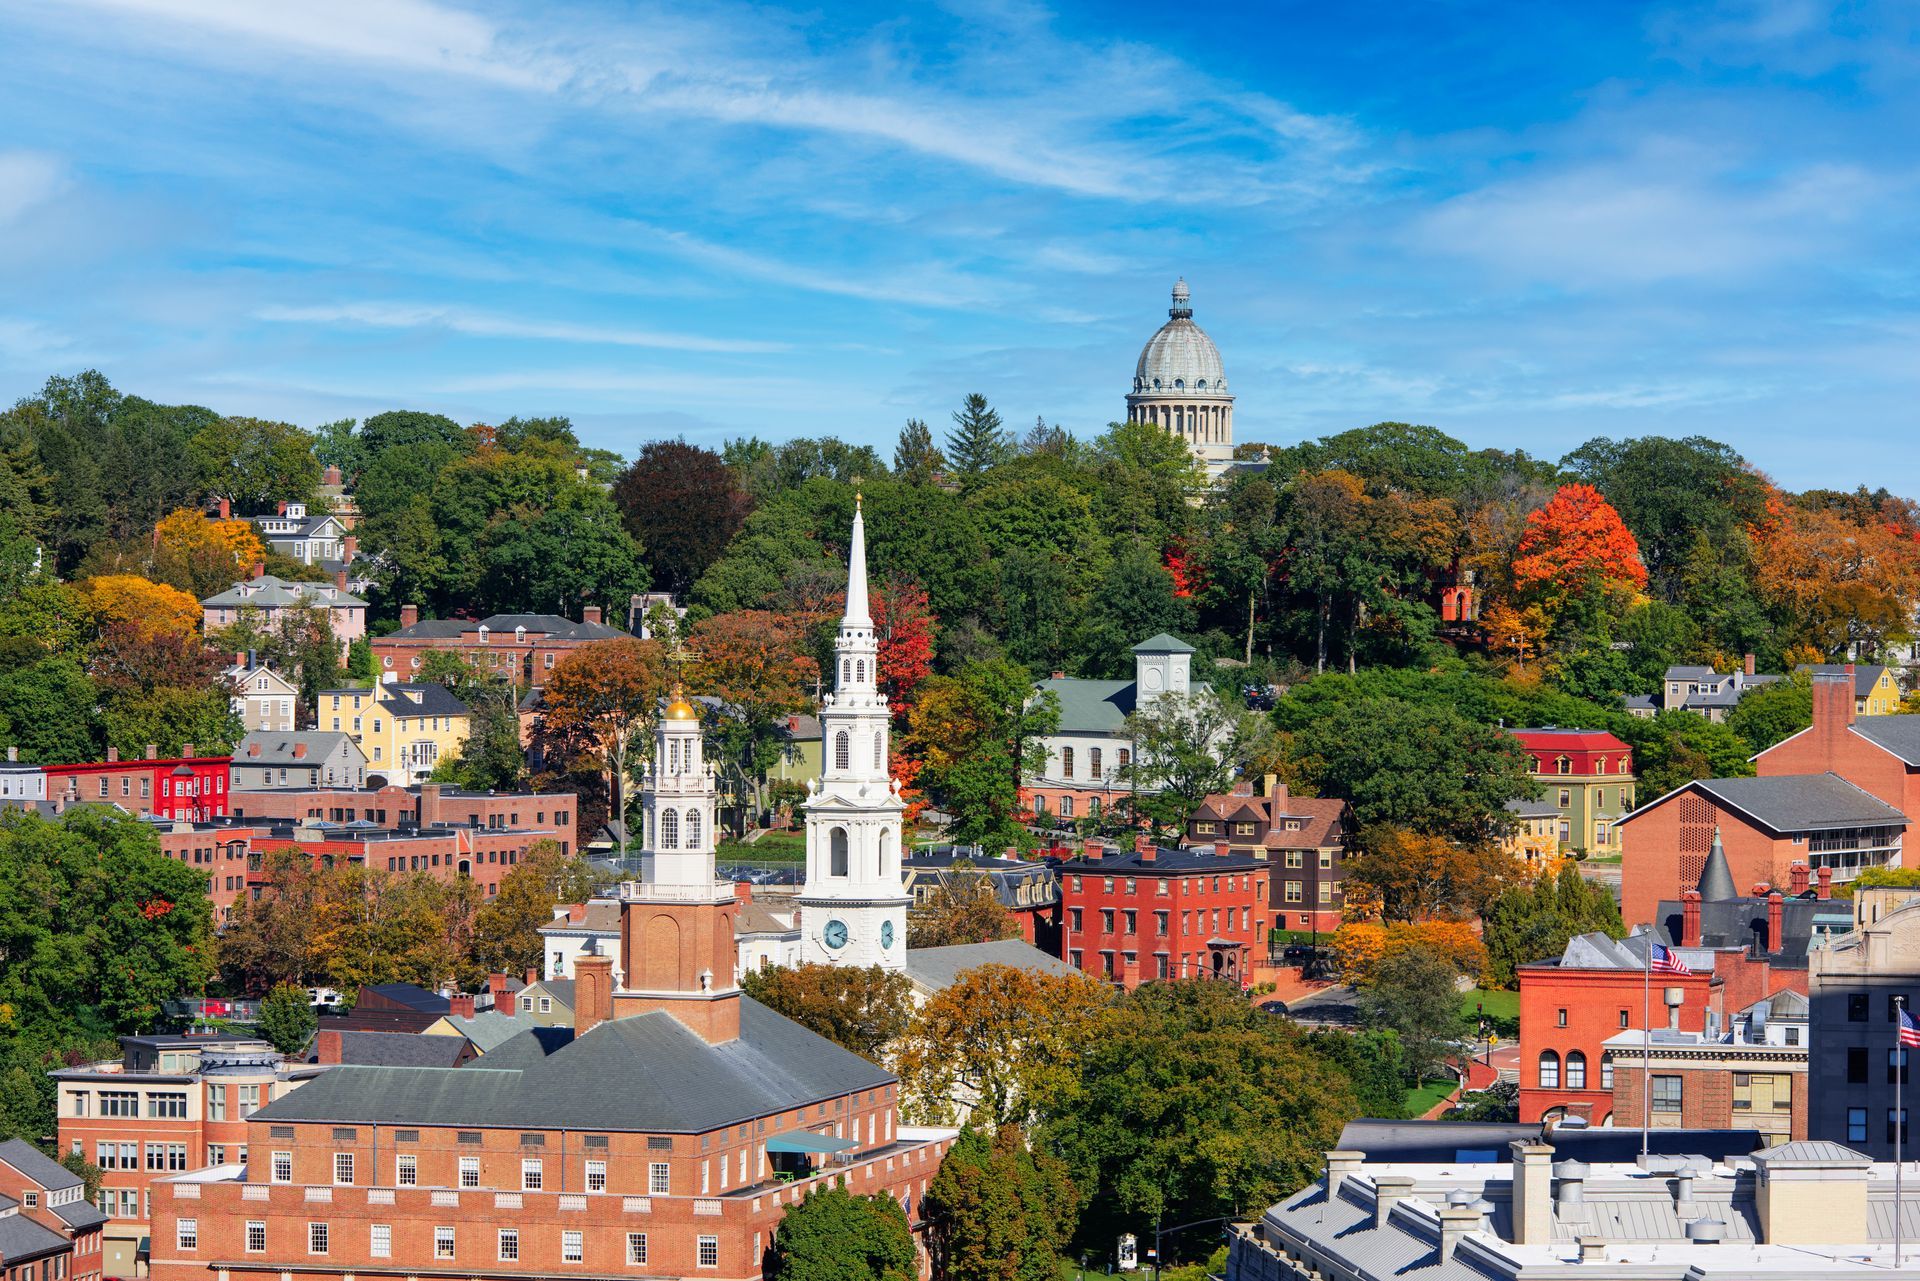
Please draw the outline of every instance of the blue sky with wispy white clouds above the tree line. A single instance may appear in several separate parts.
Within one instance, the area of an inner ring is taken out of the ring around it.
[[[1920,495],[1910,6],[0,4],[0,396],[622,453],[1092,434],[1185,275],[1240,440],[1726,440]]]

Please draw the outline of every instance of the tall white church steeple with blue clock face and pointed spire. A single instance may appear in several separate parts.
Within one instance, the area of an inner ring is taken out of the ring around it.
[[[806,799],[801,960],[906,968],[899,784],[887,772],[887,697],[866,593],[866,517],[854,499],[847,613],[820,709],[822,770]]]

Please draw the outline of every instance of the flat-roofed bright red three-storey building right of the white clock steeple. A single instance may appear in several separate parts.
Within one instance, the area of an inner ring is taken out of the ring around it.
[[[1066,908],[1066,960],[1135,989],[1150,979],[1246,983],[1265,953],[1271,868],[1212,849],[1158,849],[1144,835],[1125,853],[1081,855],[1056,868]]]

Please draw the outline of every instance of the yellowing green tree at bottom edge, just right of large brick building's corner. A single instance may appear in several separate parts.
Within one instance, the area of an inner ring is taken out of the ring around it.
[[[1012,1127],[968,1127],[920,1198],[935,1281],[1058,1281],[1079,1193]]]

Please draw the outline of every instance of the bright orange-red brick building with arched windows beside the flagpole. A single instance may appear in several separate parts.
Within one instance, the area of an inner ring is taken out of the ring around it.
[[[1713,974],[1655,974],[1649,985],[1645,956],[1647,935],[1582,933],[1559,956],[1519,968],[1523,1122],[1605,1124],[1615,1114],[1607,1039],[1644,1029],[1647,1016],[1655,1027],[1705,1031]]]

